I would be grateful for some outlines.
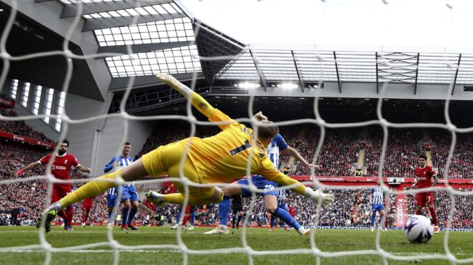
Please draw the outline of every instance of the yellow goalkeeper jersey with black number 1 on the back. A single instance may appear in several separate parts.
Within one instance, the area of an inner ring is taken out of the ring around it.
[[[222,131],[216,136],[194,137],[189,142],[188,157],[202,182],[232,182],[247,175],[248,160],[251,165],[250,174],[262,175],[269,180],[283,175],[267,158],[266,146],[260,140],[253,145],[253,129],[239,124],[218,109],[213,111],[209,120],[230,123],[218,125]]]

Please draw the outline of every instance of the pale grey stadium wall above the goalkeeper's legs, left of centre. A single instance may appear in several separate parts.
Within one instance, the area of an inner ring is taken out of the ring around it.
[[[113,93],[107,93],[105,102],[68,94],[66,113],[73,120],[93,118],[108,113]],[[92,176],[103,174],[105,163],[121,152],[123,118],[112,117],[68,125],[66,138],[70,140],[70,153],[80,163],[92,169]],[[131,157],[140,152],[154,127],[154,122],[128,120],[128,140],[132,144]]]

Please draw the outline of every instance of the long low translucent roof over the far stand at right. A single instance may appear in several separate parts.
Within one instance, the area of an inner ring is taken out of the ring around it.
[[[471,84],[473,54],[247,49],[218,74],[218,79],[260,77],[267,81],[372,83],[451,83],[456,77],[456,83]]]

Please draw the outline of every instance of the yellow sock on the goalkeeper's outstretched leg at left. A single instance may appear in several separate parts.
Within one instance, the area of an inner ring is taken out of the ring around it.
[[[69,193],[68,195],[66,195],[66,197],[59,200],[59,204],[61,204],[61,207],[66,208],[69,205],[74,204],[75,202],[79,202],[80,200],[84,200],[85,198],[89,198],[98,195],[103,191],[107,191],[108,188],[112,188],[116,185],[114,182],[103,181],[103,179],[114,179],[115,175],[121,176],[121,170],[98,177],[93,181],[88,182],[84,186],[77,188],[77,190],[73,191],[72,193]]]

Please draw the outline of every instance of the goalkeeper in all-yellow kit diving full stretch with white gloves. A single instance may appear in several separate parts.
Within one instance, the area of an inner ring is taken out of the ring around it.
[[[211,122],[219,122],[218,127],[222,131],[216,136],[208,138],[190,137],[160,146],[156,150],[144,154],[141,159],[130,166],[85,184],[45,210],[43,216],[47,214],[45,224],[47,230],[50,227],[50,221],[54,219],[59,210],[116,186],[117,184],[113,182],[115,177],[121,177],[126,182],[133,182],[147,175],[160,177],[167,174],[170,177],[179,177],[181,163],[183,163],[183,176],[188,181],[195,184],[217,184],[232,182],[234,179],[247,175],[249,160],[250,174],[262,175],[280,186],[294,185],[291,188],[292,191],[310,198],[322,206],[333,202],[333,195],[313,191],[312,188],[303,186],[300,182],[287,177],[274,168],[273,163],[266,157],[266,146],[279,132],[273,122],[267,120],[258,122],[257,135],[255,135],[253,129],[239,124],[225,113],[214,109],[209,102],[174,77],[167,74],[157,74],[156,77],[174,90],[179,91]],[[103,181],[104,179],[107,181]],[[181,193],[161,195],[155,191],[149,191],[147,198],[156,205],[183,204],[184,185],[182,182],[173,183]],[[189,205],[218,203],[222,199],[223,191],[218,186],[189,186]]]

